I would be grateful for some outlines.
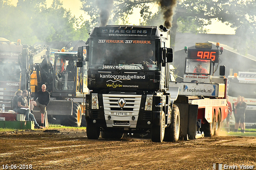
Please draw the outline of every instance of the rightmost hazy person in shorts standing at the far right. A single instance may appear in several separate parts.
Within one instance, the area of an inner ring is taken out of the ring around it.
[[[241,102],[236,105],[236,114],[240,120],[241,132],[245,132],[245,110],[247,104],[245,103],[244,97],[241,97]],[[238,120],[238,121],[239,121]]]

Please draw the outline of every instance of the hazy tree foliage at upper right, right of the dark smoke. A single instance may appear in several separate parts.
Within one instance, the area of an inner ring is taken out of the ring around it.
[[[192,16],[200,26],[211,24],[211,19],[230,24],[236,28],[234,48],[240,53],[246,53],[255,46],[256,38],[256,3],[254,0],[184,0],[179,4],[177,14]],[[179,12],[180,11],[180,12]]]

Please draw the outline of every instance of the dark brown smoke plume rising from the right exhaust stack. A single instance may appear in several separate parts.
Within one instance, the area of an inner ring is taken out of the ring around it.
[[[174,15],[175,8],[178,0],[159,0],[162,12],[164,14],[164,26],[166,28],[172,27],[172,16]]]

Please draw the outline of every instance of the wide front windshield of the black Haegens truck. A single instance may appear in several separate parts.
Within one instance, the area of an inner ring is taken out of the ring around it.
[[[154,40],[92,39],[89,68],[159,70],[158,47]]]

